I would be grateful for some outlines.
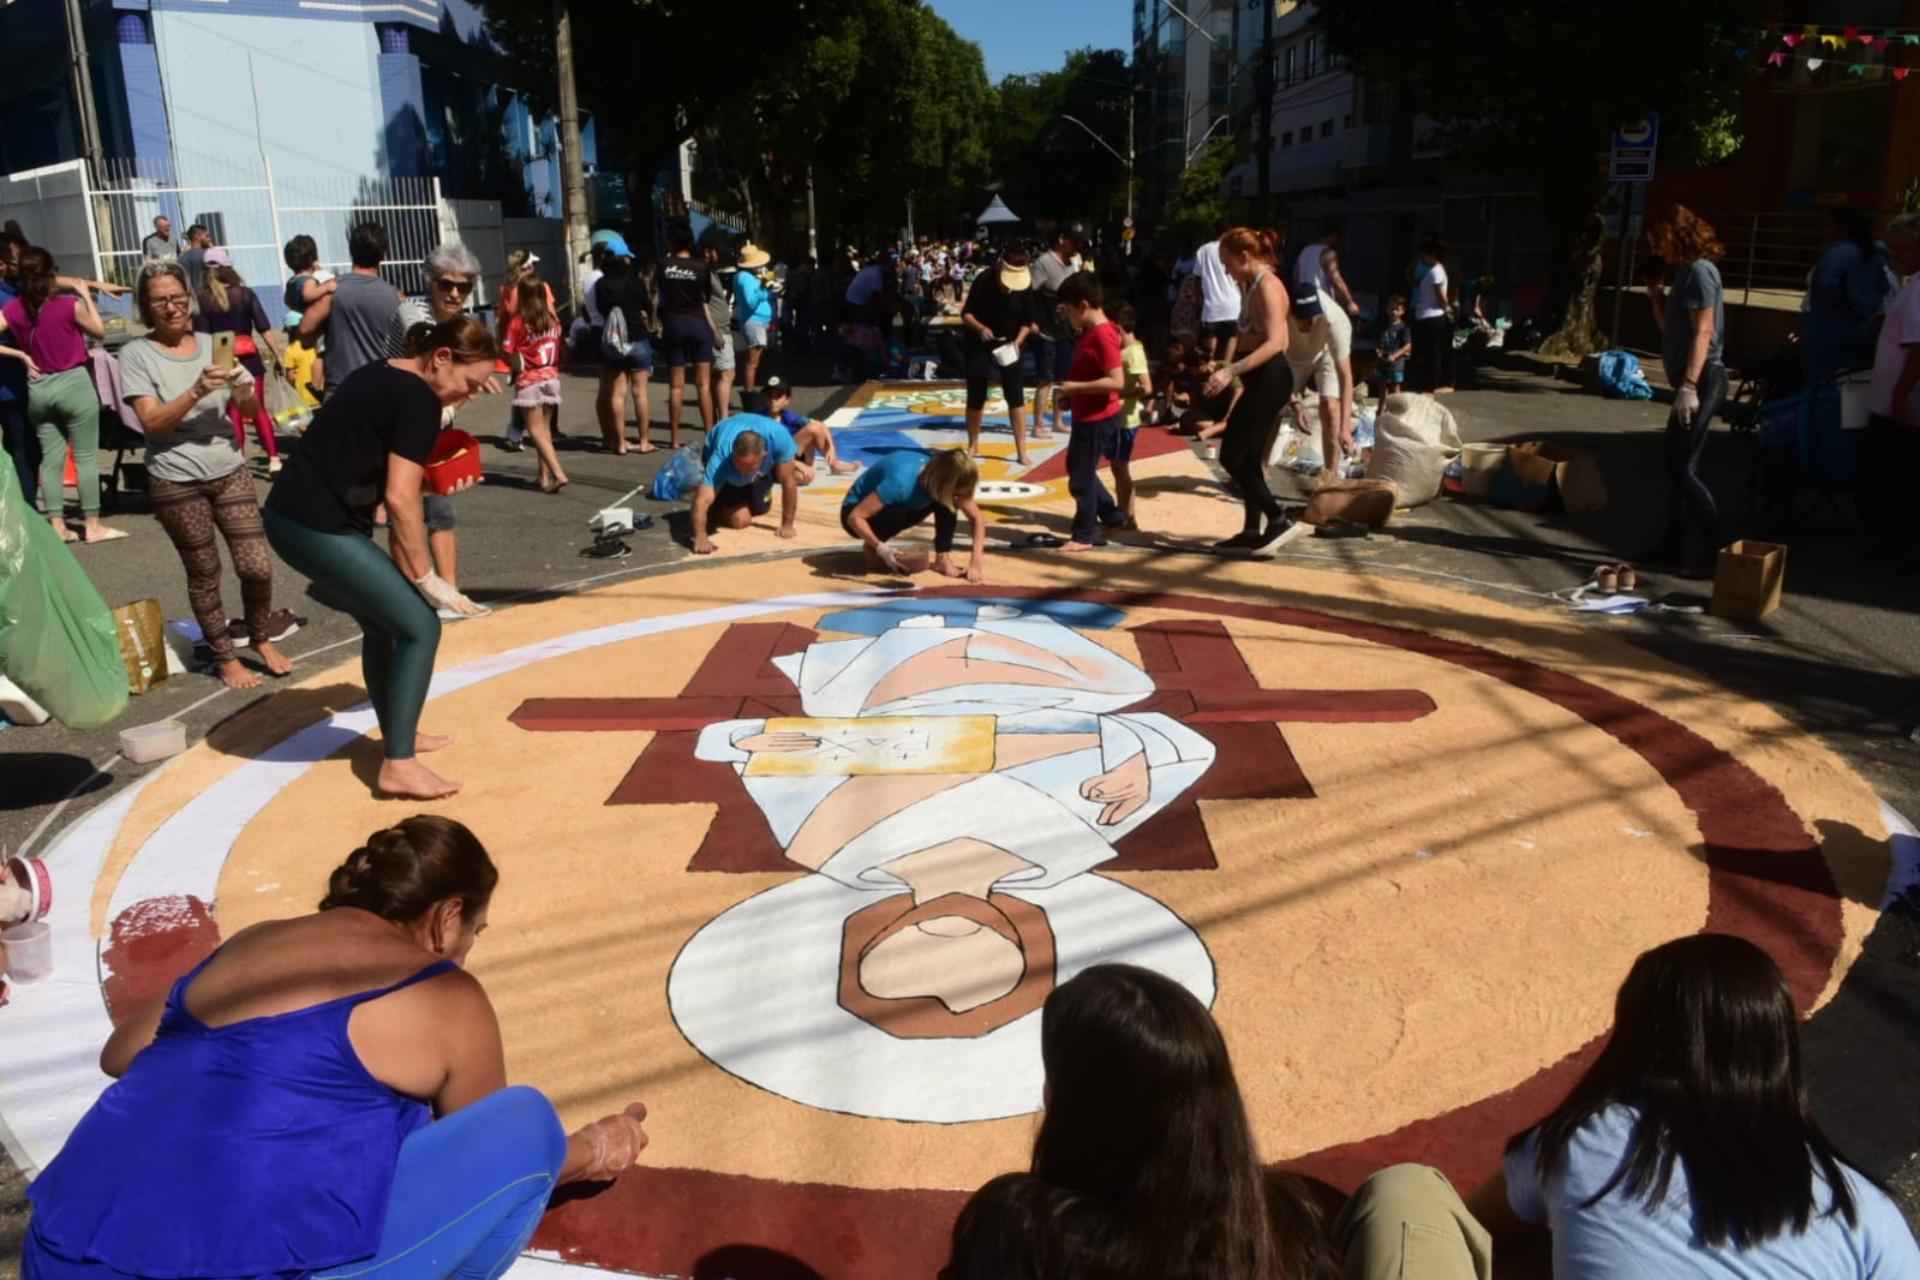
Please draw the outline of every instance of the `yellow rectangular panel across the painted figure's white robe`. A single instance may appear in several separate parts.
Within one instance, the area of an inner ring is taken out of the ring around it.
[[[876,773],[991,773],[993,716],[776,716],[747,777],[860,777]]]

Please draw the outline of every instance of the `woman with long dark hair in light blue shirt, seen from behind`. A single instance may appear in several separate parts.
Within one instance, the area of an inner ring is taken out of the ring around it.
[[[1634,961],[1607,1048],[1471,1205],[1501,1247],[1551,1230],[1555,1280],[1920,1276],[1901,1211],[1812,1121],[1786,979],[1728,935]]]

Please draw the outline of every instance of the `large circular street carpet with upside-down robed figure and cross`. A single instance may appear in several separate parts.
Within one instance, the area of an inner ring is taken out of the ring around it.
[[[918,591],[852,562],[447,631],[426,727],[467,793],[424,808],[501,865],[472,969],[511,1075],[568,1125],[653,1113],[528,1268],[931,1274],[966,1192],[1025,1163],[1037,1009],[1087,963],[1212,1004],[1269,1161],[1471,1184],[1638,952],[1740,933],[1811,1009],[1872,925],[1872,793],[1588,624],[1217,560],[1089,585],[1004,555]],[[58,977],[10,1011],[46,1055],[0,1080],[31,1161],[104,1086],[113,1011],[413,812],[369,794],[359,702],[353,666],[311,676],[50,848]]]

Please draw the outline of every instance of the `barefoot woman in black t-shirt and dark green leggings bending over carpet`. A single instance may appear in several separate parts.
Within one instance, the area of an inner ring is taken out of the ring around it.
[[[374,789],[438,800],[461,785],[428,770],[415,752],[451,741],[420,733],[419,723],[440,649],[436,610],[459,593],[434,572],[420,489],[442,407],[486,391],[499,351],[472,315],[415,324],[405,349],[399,359],[359,368],[326,397],[273,486],[265,522],[275,553],[361,624],[367,697],[386,747]],[[372,541],[380,503],[388,551]]]

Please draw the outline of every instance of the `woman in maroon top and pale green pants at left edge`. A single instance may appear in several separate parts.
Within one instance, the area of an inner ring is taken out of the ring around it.
[[[27,365],[27,420],[40,439],[40,499],[69,543],[79,541],[61,505],[69,443],[86,541],[127,537],[100,524],[100,393],[86,368],[86,340],[106,332],[84,280],[61,276],[46,249],[19,255],[19,297],[0,307],[0,338],[12,344],[0,345],[0,357]]]

